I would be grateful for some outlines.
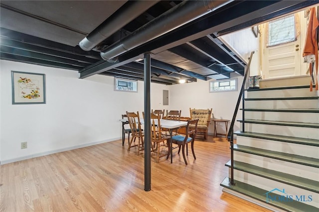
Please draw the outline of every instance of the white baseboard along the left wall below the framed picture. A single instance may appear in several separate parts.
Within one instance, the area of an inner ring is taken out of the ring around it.
[[[93,141],[93,142],[83,143],[83,144],[79,144],[79,145],[75,145],[75,146],[69,146],[69,147],[65,147],[65,148],[61,148],[61,149],[55,149],[55,150],[51,150],[51,151],[39,152],[39,153],[36,153],[36,154],[26,155],[26,156],[23,156],[23,157],[16,157],[16,158],[12,158],[12,159],[9,159],[9,160],[2,160],[2,161],[0,161],[0,165],[7,164],[7,163],[13,163],[13,162],[16,162],[16,161],[21,161],[21,160],[26,160],[26,159],[30,159],[30,158],[34,158],[34,157],[40,157],[40,156],[44,156],[44,155],[54,154],[54,153],[58,153],[58,152],[62,152],[62,151],[68,151],[68,150],[72,150],[72,149],[83,148],[83,147],[86,147],[86,146],[93,146],[93,145],[96,145],[96,144],[106,143],[106,142],[110,142],[110,141],[116,141],[116,140],[120,140],[120,139],[122,139],[122,137],[113,138],[113,139],[107,139],[107,140],[103,140],[103,141]]]

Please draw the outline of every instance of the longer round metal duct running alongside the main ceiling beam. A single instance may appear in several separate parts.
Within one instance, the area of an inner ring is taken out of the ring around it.
[[[192,20],[210,13],[233,0],[188,0],[167,10],[159,17],[140,27],[121,41],[107,47],[101,57],[109,62],[113,58],[134,49],[150,40],[172,31]]]

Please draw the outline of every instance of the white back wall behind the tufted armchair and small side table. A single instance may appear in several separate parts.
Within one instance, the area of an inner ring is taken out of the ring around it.
[[[243,77],[238,77],[238,89]],[[209,92],[209,81],[197,80],[197,82],[171,85],[169,98],[171,110],[181,110],[181,116],[189,117],[189,108],[213,109],[212,118],[231,120],[234,114],[239,91]],[[241,118],[238,112],[237,118]],[[230,125],[230,122],[229,122]],[[209,126],[209,134],[213,134],[213,123]],[[239,130],[239,123],[235,123],[234,131]],[[225,133],[224,124],[217,126],[218,133]]]

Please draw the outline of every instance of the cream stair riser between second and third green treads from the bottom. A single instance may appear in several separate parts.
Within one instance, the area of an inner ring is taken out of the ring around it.
[[[234,160],[318,181],[319,168],[270,157],[234,151]],[[235,178],[236,179],[236,178]]]

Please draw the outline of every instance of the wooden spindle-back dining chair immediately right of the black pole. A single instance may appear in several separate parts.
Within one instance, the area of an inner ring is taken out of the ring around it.
[[[160,114],[151,114],[151,142],[153,143],[153,152],[156,153],[157,162],[160,162],[160,157],[168,155],[169,145],[167,140],[169,136],[163,135],[160,129]],[[166,141],[166,142],[165,142]],[[167,150],[165,150],[167,149]]]

